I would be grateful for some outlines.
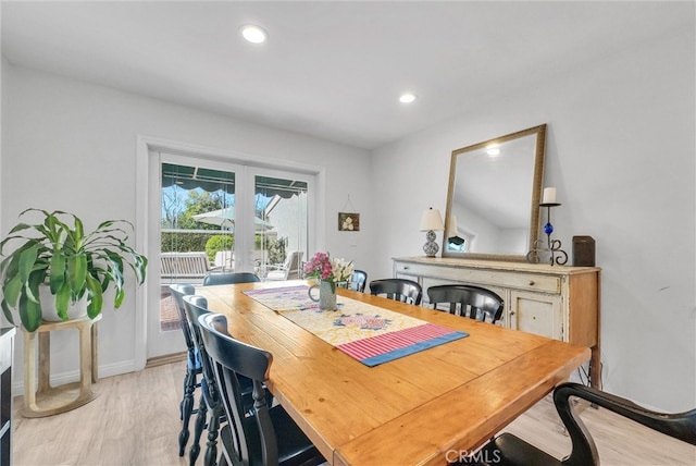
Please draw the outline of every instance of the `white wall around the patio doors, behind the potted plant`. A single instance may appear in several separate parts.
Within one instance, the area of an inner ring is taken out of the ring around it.
[[[357,209],[371,206],[369,154],[274,131],[111,88],[4,63],[0,217],[3,234],[27,207],[72,211],[94,228],[105,219],[136,220],[136,138],[160,137],[219,148],[250,158],[294,160],[325,169],[325,231],[318,247],[356,263],[374,257],[370,222],[350,240],[337,232],[348,195]],[[138,225],[136,224],[136,229]],[[322,240],[323,238],[323,240]],[[369,268],[369,266],[366,266]],[[104,308],[99,324],[100,375],[132,370],[137,317],[135,290],[121,309]],[[22,367],[22,338],[15,367]],[[75,335],[52,336],[53,373],[77,371]],[[21,382],[21,377],[17,378]]]

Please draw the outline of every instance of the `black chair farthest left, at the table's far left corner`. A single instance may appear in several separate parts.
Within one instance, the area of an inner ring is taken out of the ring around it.
[[[196,344],[191,335],[190,324],[188,317],[186,317],[186,310],[184,309],[184,296],[192,295],[196,293],[196,287],[189,284],[172,284],[170,285],[172,293],[172,301],[178,315],[179,327],[184,334],[184,341],[186,342],[186,373],[184,375],[184,397],[179,403],[179,418],[182,419],[182,430],[178,433],[178,455],[184,456],[186,450],[186,443],[190,437],[188,430],[188,421],[194,415],[194,393],[196,389],[200,387],[199,376],[202,373],[202,366],[198,352],[196,351]]]

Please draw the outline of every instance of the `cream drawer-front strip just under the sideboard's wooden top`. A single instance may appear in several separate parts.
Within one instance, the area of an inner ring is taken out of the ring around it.
[[[472,283],[509,289],[558,294],[561,278],[540,273],[511,272],[489,269],[438,267],[424,263],[395,261],[396,274],[448,279],[460,283]]]

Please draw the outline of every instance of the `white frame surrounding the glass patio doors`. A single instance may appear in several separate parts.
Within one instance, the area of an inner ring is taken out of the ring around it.
[[[313,209],[308,212],[309,222],[309,247],[319,250],[325,244],[326,236],[326,170],[324,167],[299,163],[290,160],[279,160],[257,155],[241,154],[237,151],[220,149],[197,144],[189,144],[157,136],[137,135],[136,137],[136,206],[135,206],[135,247],[149,258],[148,278],[145,286],[138,287],[136,292],[135,312],[135,370],[145,368],[147,364],[147,340],[148,340],[148,303],[150,281],[160,275],[159,260],[153,260],[152,254],[159,255],[159,250],[150,250],[148,246],[151,232],[160,231],[160,216],[151,216],[151,203],[159,201],[151,194],[150,180],[153,175],[154,165],[151,163],[151,152],[166,151],[170,154],[181,154],[185,156],[198,157],[211,161],[236,163],[240,165],[253,165],[254,169],[286,170],[297,173],[304,173],[315,177],[314,194],[312,196]],[[159,155],[158,155],[159,160]],[[159,170],[159,169],[158,169]],[[153,218],[156,217],[156,218]],[[159,286],[159,281],[158,281]]]

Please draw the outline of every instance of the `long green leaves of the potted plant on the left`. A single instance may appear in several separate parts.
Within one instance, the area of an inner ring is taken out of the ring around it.
[[[27,331],[40,326],[42,307],[48,306],[39,298],[42,286],[54,296],[52,304],[60,319],[67,320],[69,307],[80,301],[86,302],[87,315],[94,319],[101,312],[103,294],[110,287],[114,308],[123,303],[126,267],[135,273],[138,285],[145,282],[148,260],[126,244],[124,226],[133,230],[130,222],[107,220],[85,233],[83,221],[73,213],[32,208],[20,218],[27,212],[42,213],[44,222],[18,223],[0,242],[0,255],[5,256],[8,243],[24,241],[0,262],[0,306],[10,322],[14,323],[12,310],[16,309]]]

